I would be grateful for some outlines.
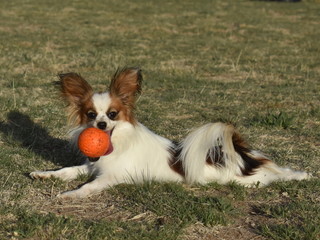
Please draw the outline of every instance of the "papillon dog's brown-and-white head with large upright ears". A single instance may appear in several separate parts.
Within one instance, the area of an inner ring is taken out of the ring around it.
[[[59,78],[62,96],[69,103],[69,120],[74,125],[112,131],[119,121],[136,124],[133,110],[141,91],[140,69],[117,70],[108,91],[103,93],[94,93],[76,73],[59,74]]]

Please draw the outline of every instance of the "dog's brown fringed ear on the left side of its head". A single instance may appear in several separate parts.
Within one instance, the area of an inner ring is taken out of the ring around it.
[[[62,96],[74,105],[81,105],[88,101],[93,95],[93,90],[89,83],[77,73],[63,73],[58,75]]]

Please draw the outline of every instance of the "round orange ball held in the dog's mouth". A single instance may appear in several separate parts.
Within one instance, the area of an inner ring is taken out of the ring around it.
[[[88,157],[101,157],[108,152],[110,137],[100,129],[93,127],[86,128],[79,135],[78,147]]]

